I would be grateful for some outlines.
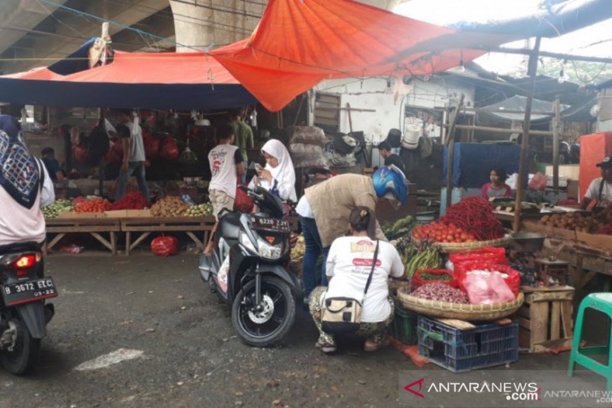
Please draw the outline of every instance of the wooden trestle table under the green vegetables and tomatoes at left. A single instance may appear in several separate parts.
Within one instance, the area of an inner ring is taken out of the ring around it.
[[[117,232],[121,231],[121,223],[118,218],[55,218],[47,220],[47,234],[57,234],[47,242],[43,250],[45,253],[51,250],[66,234],[86,233],[99,240],[102,245],[117,254]],[[108,233],[110,242],[102,233]]]

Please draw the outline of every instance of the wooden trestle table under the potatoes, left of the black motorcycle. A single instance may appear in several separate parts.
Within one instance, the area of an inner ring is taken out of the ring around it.
[[[199,250],[204,250],[209,232],[215,225],[215,217],[140,217],[122,218],[121,231],[125,232],[125,254],[129,255],[138,244],[143,242],[152,232],[185,232]],[[132,232],[140,236],[132,242]],[[203,240],[196,233],[203,232]]]

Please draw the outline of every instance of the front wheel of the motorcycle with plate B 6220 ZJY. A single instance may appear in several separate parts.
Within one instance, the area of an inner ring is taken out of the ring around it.
[[[232,323],[249,346],[267,347],[278,343],[296,320],[296,301],[291,287],[274,276],[261,278],[262,310],[255,306],[255,280],[238,292],[232,308]]]

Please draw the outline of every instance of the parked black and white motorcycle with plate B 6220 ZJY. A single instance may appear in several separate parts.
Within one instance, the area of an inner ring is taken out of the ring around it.
[[[244,343],[277,343],[296,318],[300,284],[285,265],[291,253],[283,203],[261,187],[240,187],[253,199],[255,214],[226,212],[219,220],[212,256],[200,257],[200,274],[223,302]]]

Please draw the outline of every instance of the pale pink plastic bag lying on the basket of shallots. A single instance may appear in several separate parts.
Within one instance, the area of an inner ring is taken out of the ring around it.
[[[463,286],[468,292],[469,303],[474,305],[513,302],[515,299],[515,295],[499,273],[468,273],[463,279]]]

